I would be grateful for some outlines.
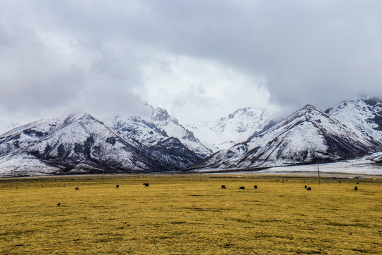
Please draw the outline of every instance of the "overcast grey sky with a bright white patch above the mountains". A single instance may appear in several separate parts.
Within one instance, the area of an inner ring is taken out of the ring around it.
[[[187,124],[382,96],[381,13],[380,0],[0,0],[1,119],[150,103]]]

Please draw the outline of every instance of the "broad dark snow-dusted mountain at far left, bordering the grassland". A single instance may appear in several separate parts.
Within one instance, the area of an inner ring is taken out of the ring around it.
[[[159,149],[175,145],[187,150],[174,140],[158,144]],[[140,145],[86,113],[38,120],[0,136],[0,171],[2,175],[38,175],[180,169]],[[182,157],[176,155],[173,160],[182,162]]]

